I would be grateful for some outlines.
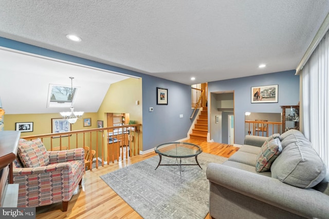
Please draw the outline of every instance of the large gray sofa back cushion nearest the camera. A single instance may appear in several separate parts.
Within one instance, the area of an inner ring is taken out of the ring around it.
[[[312,188],[320,183],[326,174],[326,166],[311,143],[299,131],[288,133],[282,144],[286,140],[290,143],[272,163],[272,177],[300,188]]]

